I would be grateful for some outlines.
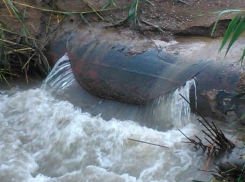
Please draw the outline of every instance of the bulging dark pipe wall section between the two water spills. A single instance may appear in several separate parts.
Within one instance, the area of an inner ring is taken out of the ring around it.
[[[67,43],[72,69],[90,93],[132,104],[146,104],[185,84],[207,62],[178,61],[156,49],[134,52],[130,45],[93,37],[84,44],[81,32]]]

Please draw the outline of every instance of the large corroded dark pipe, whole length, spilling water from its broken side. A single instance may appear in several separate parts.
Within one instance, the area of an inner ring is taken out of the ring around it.
[[[212,57],[219,44],[198,51],[176,44],[166,53],[131,35],[106,29],[70,31],[52,41],[46,55],[54,63],[67,52],[79,83],[101,98],[147,105],[196,77],[197,109],[204,117],[233,122],[244,114],[244,71],[233,56],[223,63]],[[194,92],[190,98],[195,105]]]

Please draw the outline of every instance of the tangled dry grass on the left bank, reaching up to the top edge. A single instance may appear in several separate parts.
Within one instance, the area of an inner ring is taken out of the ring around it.
[[[0,79],[8,83],[8,79],[24,75],[28,83],[30,67],[38,67],[45,74],[50,69],[43,54],[45,42],[33,37],[26,27],[26,23],[31,24],[26,21],[26,7],[20,13],[14,1],[4,0],[3,2],[9,13],[8,16],[13,20],[12,23],[18,24],[20,31],[13,30],[12,27],[6,25],[4,20],[0,20]]]

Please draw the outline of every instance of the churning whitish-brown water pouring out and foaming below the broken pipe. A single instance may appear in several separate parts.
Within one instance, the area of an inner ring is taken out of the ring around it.
[[[69,65],[62,64],[69,72]],[[47,84],[53,89],[69,87],[72,73],[52,86],[50,79],[40,88],[0,94],[1,182],[187,182],[211,178],[198,171],[204,168],[205,157],[182,143],[186,139],[178,131],[199,133],[200,126],[191,122],[188,106],[178,99],[179,93],[188,96],[193,80],[154,103],[155,114],[168,107],[171,117],[177,118],[173,129],[161,132],[131,120],[106,121],[100,115],[92,116],[46,89]],[[178,107],[180,112],[175,113],[173,109]],[[187,119],[181,122],[184,116]]]

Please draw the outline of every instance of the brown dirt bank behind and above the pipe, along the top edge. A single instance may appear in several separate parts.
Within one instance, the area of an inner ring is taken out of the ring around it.
[[[29,36],[42,39],[45,42],[51,33],[59,32],[60,27],[67,30],[84,26],[96,28],[97,26],[117,24],[127,18],[129,7],[133,4],[133,0],[114,0],[116,7],[111,4],[103,9],[108,3],[107,0],[18,0],[10,2],[22,17],[22,21],[30,33]],[[217,14],[213,12],[245,8],[245,2],[242,0],[139,0],[137,2],[137,17],[142,20],[139,30],[148,36],[160,34],[162,39],[172,35],[209,37],[217,17]],[[8,7],[12,7],[12,5],[8,5]],[[5,3],[0,4],[0,9],[1,27],[21,34],[23,24],[16,17],[16,12],[11,8],[6,8]],[[98,12],[95,13],[95,10]],[[83,13],[83,16],[81,17],[78,12]],[[222,21],[219,23],[215,37],[222,36],[227,23],[233,16],[231,13],[221,16]],[[86,21],[87,23],[85,23]],[[149,26],[149,24],[153,26]],[[161,28],[165,33],[159,33],[156,31],[156,27]],[[123,27],[119,28],[123,29]]]

